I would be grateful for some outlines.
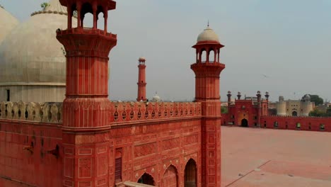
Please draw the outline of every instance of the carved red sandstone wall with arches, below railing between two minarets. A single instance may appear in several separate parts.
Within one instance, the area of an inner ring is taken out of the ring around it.
[[[114,183],[116,150],[122,149],[122,181],[137,182],[146,172],[153,176],[156,186],[162,186],[163,177],[168,179],[171,176],[165,171],[173,166],[177,171],[178,185],[184,186],[185,166],[189,159],[194,159],[197,162],[197,186],[201,186],[199,118],[123,125],[111,130],[110,137],[113,137],[110,142],[110,183]]]

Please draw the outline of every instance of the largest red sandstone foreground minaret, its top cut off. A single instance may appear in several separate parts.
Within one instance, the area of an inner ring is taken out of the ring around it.
[[[66,98],[63,102],[63,186],[112,186],[109,178],[108,55],[117,36],[107,32],[111,0],[60,0],[67,7],[68,28],[57,30],[66,50]],[[83,28],[86,13],[93,28]],[[103,13],[104,30],[97,26]],[[77,26],[71,26],[73,15]],[[55,30],[54,30],[55,31]]]

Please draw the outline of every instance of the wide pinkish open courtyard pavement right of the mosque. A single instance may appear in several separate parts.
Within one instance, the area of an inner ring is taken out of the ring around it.
[[[331,187],[331,132],[221,127],[222,187]]]

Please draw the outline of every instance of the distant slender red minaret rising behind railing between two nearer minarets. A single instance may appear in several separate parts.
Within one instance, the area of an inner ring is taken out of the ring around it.
[[[146,101],[146,59],[144,57],[139,58],[139,74],[138,74],[138,97],[137,101]]]

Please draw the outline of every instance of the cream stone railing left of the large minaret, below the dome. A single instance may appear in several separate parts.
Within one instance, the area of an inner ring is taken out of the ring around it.
[[[1,102],[0,119],[62,123],[62,103]]]

